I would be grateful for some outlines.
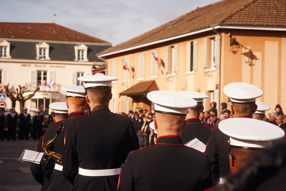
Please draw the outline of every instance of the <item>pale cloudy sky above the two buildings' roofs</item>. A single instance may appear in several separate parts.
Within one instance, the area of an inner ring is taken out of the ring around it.
[[[115,46],[197,7],[217,1],[0,0],[0,22],[53,23],[55,19],[56,24],[106,40]]]

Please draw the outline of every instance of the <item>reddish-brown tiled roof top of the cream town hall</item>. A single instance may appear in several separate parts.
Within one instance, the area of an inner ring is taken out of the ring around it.
[[[55,23],[3,23],[0,38],[110,43]]]

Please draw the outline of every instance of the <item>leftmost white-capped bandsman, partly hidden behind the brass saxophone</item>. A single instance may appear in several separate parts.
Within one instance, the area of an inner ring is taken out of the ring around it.
[[[36,147],[36,151],[37,152],[44,152],[43,151],[43,147],[44,147],[45,143],[47,141],[49,141],[50,139],[55,137],[55,133],[54,133],[54,136],[52,138],[50,138],[52,136],[51,135],[51,127],[56,127],[57,128],[64,120],[67,119],[67,115],[68,115],[67,114],[67,105],[66,105],[65,102],[51,103],[49,105],[49,107],[51,109],[55,110],[55,116],[54,116],[55,123],[52,123],[51,125],[49,125],[45,135],[43,135],[40,138],[40,141],[39,141],[39,143],[38,143],[38,145]],[[44,140],[45,138],[46,138],[46,140]],[[56,139],[56,140],[57,140],[57,142],[59,142],[58,139]],[[50,149],[50,151],[54,150],[54,143],[52,145],[50,145],[49,149]],[[31,172],[32,172],[33,177],[35,178],[35,180],[37,182],[39,182],[40,184],[42,184],[42,189],[41,190],[45,190],[46,191],[46,190],[48,190],[51,174],[52,174],[52,171],[53,171],[53,169],[55,167],[55,160],[49,159],[49,156],[47,156],[47,155],[44,156],[44,159],[45,159],[45,162],[42,162],[41,164],[33,163],[31,165]]]

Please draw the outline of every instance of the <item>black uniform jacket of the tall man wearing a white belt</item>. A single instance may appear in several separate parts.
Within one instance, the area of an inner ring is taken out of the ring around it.
[[[139,149],[132,120],[110,112],[107,106],[72,119],[65,138],[63,175],[74,184],[74,190],[116,190],[119,175],[84,176],[78,174],[78,168],[120,168],[129,151]]]

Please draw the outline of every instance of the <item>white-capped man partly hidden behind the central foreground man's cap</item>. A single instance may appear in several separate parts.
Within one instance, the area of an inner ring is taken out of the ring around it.
[[[204,106],[202,105],[204,99],[207,99],[208,95],[192,91],[180,91],[178,93],[184,94],[194,99],[198,103],[196,107],[188,109],[188,114],[186,117],[188,123],[186,128],[182,131],[183,143],[188,143],[192,139],[197,138],[206,145],[208,139],[210,138],[212,129],[202,124],[199,117],[200,113],[204,110]]]

